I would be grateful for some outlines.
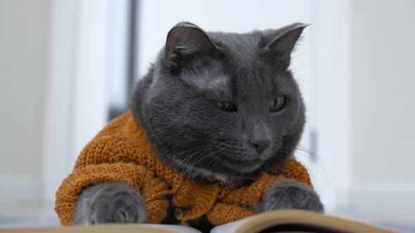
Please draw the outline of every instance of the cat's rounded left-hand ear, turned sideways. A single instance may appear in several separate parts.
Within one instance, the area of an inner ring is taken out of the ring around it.
[[[215,45],[200,27],[191,22],[180,22],[167,34],[165,45],[165,65],[177,68],[189,58],[208,55]]]

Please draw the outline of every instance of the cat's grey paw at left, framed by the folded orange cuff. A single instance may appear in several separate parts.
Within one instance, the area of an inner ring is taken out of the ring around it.
[[[106,182],[84,190],[75,211],[75,224],[144,223],[140,194],[124,182]]]

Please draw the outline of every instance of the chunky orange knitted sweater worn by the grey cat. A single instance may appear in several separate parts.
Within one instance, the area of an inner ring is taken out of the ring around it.
[[[158,159],[132,112],[126,112],[84,147],[72,173],[56,192],[55,211],[62,225],[72,225],[75,205],[84,187],[123,181],[141,194],[148,223],[161,223],[170,218],[167,215],[172,211],[168,210],[180,208],[181,225],[202,217],[212,225],[221,225],[253,215],[250,209],[262,200],[267,189],[287,178],[312,186],[307,169],[294,159],[260,173],[255,181],[240,187],[186,180]]]

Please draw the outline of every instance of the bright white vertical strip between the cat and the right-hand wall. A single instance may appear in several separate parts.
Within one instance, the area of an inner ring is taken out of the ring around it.
[[[348,0],[313,1],[312,15],[315,36],[312,63],[315,81],[310,101],[316,112],[317,162],[310,171],[326,211],[337,212],[347,206],[350,184],[348,126],[349,36],[350,9]],[[318,171],[318,172],[316,172]]]

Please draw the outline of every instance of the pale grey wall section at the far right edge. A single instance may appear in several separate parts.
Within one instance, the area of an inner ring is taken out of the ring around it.
[[[350,4],[352,208],[415,216],[415,1]]]

